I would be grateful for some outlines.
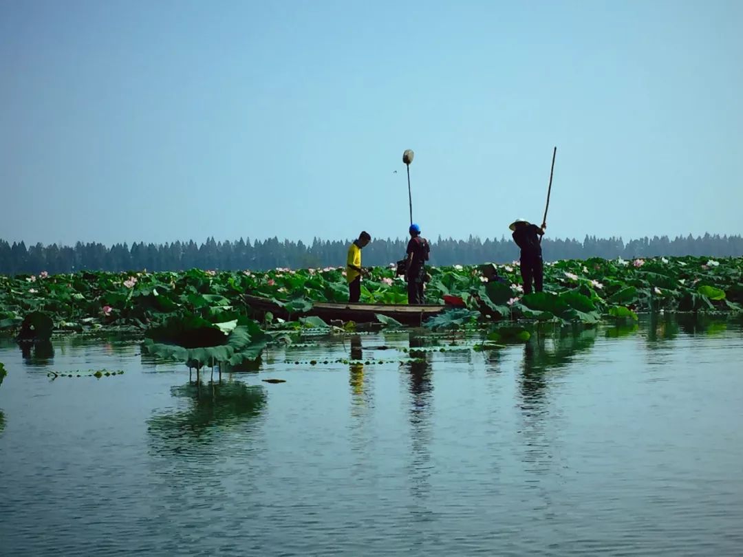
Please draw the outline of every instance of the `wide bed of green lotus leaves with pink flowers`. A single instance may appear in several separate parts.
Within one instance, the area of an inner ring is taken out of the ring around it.
[[[458,296],[464,307],[425,325],[449,329],[494,322],[486,333],[492,345],[525,342],[529,331],[523,325],[529,323],[591,325],[610,319],[631,325],[637,312],[739,312],[743,302],[743,258],[557,261],[545,264],[547,291],[528,295],[522,293],[516,262],[496,269],[502,281],[487,283],[477,266],[431,267],[427,302]],[[243,299],[246,293],[273,300],[296,321],[270,315],[256,321]],[[0,276],[0,331],[38,343],[48,342],[52,330],[134,330],[146,337],[145,351],[197,371],[217,364],[250,369],[266,346],[290,341],[297,330],[343,333],[302,313],[313,301],[345,302],[347,296],[343,270],[329,267]],[[362,283],[361,296],[362,302],[403,304],[406,285],[392,268],[375,267]],[[380,322],[400,326],[394,319]]]

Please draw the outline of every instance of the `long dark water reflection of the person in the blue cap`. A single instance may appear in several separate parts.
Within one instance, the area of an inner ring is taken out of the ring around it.
[[[411,440],[411,460],[408,467],[410,492],[420,507],[413,511],[418,518],[431,514],[426,506],[431,486],[429,483],[433,466],[431,465],[430,443],[432,438],[432,354],[429,351],[415,350],[426,346],[426,336],[410,331],[408,336],[411,362],[403,364],[408,371],[409,422]]]

